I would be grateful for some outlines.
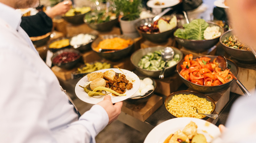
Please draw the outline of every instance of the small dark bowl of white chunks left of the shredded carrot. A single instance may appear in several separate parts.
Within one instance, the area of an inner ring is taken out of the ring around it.
[[[91,44],[96,38],[97,35],[95,34],[80,33],[70,38],[70,45],[74,49],[84,52],[91,49]]]

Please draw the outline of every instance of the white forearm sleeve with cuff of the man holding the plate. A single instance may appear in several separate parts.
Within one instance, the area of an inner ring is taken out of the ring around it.
[[[95,137],[109,122],[108,114],[100,105],[94,105],[78,121],[67,128],[53,132],[57,142],[95,143]]]

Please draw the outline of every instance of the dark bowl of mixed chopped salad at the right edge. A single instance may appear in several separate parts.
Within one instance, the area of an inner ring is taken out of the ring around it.
[[[237,61],[246,64],[256,63],[256,58],[250,50],[249,46],[243,44],[233,34],[233,29],[223,33],[223,35],[220,37],[220,43],[225,52]]]

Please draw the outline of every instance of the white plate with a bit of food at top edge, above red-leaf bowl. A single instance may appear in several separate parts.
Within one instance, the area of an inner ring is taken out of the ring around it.
[[[164,3],[164,5],[155,5],[156,2]],[[180,0],[149,0],[147,6],[150,8],[169,8],[180,3]]]

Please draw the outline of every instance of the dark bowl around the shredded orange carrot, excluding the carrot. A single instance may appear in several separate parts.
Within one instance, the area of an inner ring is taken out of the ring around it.
[[[129,45],[128,47],[122,49],[122,50],[117,50],[117,51],[114,51],[114,52],[98,52],[95,50],[95,48],[98,46],[99,42],[100,41],[103,41],[105,39],[112,39],[112,38],[115,38],[115,37],[119,37],[119,38],[122,38],[122,39],[125,39],[125,40],[132,40],[130,37],[126,37],[124,35],[117,35],[117,34],[113,34],[113,35],[102,35],[100,37],[98,37],[91,45],[93,51],[95,51],[99,56],[105,58],[105,59],[108,59],[108,60],[118,60],[118,59],[121,59],[121,58],[124,58],[128,55],[130,55],[133,50],[134,50],[134,40],[133,43],[131,45]]]

